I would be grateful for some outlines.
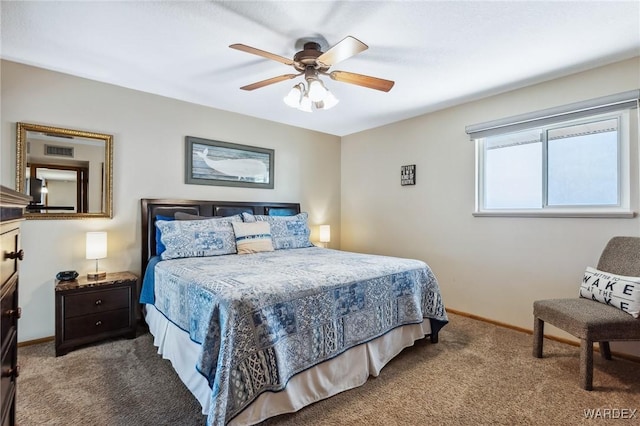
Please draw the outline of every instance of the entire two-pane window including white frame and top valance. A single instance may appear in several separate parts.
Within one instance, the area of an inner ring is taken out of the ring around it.
[[[600,99],[467,127],[477,154],[474,214],[632,217],[629,106],[638,92],[615,105]]]

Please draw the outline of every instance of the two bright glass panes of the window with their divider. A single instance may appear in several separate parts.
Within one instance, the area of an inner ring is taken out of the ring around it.
[[[620,116],[479,141],[483,209],[619,206]]]

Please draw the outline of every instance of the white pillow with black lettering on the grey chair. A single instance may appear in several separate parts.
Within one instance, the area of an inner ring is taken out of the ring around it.
[[[580,296],[614,306],[634,318],[640,316],[640,277],[625,277],[587,268]]]

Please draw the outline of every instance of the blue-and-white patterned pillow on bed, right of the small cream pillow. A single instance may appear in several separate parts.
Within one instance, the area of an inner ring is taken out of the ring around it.
[[[299,213],[295,216],[264,216],[242,213],[245,222],[268,222],[271,225],[271,240],[276,250],[313,247],[309,241],[308,214]]]

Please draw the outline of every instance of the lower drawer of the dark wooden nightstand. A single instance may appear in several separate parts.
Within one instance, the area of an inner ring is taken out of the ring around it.
[[[129,308],[101,312],[82,317],[67,318],[64,321],[65,340],[95,336],[101,333],[130,328]]]

